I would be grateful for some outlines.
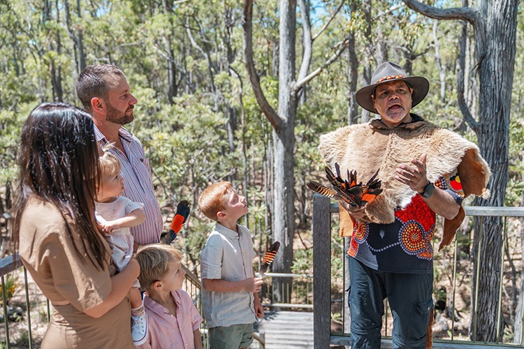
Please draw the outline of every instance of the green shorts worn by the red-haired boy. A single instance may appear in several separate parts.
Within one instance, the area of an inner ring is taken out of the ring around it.
[[[219,326],[209,329],[210,349],[247,348],[253,343],[253,324]]]

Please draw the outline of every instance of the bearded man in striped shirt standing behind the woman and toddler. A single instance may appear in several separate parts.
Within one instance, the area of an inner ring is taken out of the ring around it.
[[[78,77],[76,93],[93,117],[99,144],[114,143],[108,151],[115,154],[122,164],[123,195],[144,204],[145,222],[131,228],[135,247],[159,242],[162,214],[154,195],[149,159],[145,157],[140,140],[122,127],[133,121],[133,109],[137,103],[124,72],[110,64],[88,66]]]

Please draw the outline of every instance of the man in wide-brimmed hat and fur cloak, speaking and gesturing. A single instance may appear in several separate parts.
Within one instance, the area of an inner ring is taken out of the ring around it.
[[[442,248],[464,219],[463,198],[488,194],[490,170],[478,147],[410,112],[428,89],[424,77],[381,64],[372,84],[356,93],[358,104],[380,119],[321,136],[330,168],[356,170],[364,183],[378,170],[383,189],[363,207],[340,205],[341,235],[351,237],[351,348],[380,348],[386,297],[393,348],[431,346],[435,214],[445,218]]]

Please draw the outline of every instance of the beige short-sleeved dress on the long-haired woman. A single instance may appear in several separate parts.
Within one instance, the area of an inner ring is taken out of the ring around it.
[[[84,313],[111,291],[109,245],[105,268],[96,269],[89,258],[78,256],[66,224],[85,254],[74,222],[66,222],[49,202],[30,199],[20,224],[20,259],[54,306],[42,348],[133,348],[129,299],[100,318]]]

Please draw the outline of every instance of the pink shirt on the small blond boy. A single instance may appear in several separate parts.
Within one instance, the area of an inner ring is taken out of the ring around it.
[[[150,335],[147,342],[136,348],[195,348],[193,332],[204,319],[185,291],[173,291],[171,295],[177,304],[176,316],[150,297],[144,298]]]

